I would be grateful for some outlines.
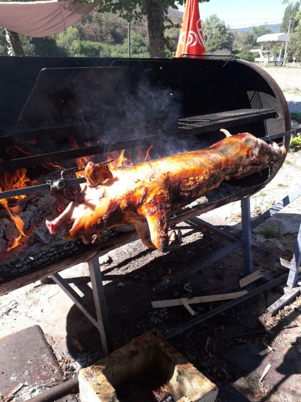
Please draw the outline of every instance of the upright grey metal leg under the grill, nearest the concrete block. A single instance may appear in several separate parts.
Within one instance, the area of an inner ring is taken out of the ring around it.
[[[102,350],[104,356],[108,356],[108,354],[113,350],[112,338],[110,335],[110,324],[106,306],[106,297],[104,295],[104,286],[102,284],[102,271],[100,269],[98,257],[89,260],[88,266],[96,309],[97,327],[102,340]]]

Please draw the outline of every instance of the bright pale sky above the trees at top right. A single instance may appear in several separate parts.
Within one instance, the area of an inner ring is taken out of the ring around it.
[[[286,7],[287,4],[282,4],[281,0],[210,0],[199,4],[199,11],[201,20],[217,14],[226,25],[235,29],[281,23]],[[179,6],[179,10],[184,11],[184,6]]]

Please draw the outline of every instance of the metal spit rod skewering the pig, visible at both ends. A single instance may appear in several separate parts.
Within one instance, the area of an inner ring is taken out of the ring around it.
[[[292,134],[297,134],[297,133],[301,133],[301,127],[298,129],[286,131],[285,133],[266,135],[265,137],[260,137],[260,139],[262,139],[262,141],[265,141],[265,142],[270,142],[273,139],[286,137],[287,135],[292,135]],[[110,162],[112,162],[112,161],[110,161]],[[109,162],[103,162],[103,164],[107,164],[107,163],[109,163]],[[70,170],[72,170],[72,169],[73,168],[71,168]],[[23,189],[2,191],[0,193],[0,199],[17,197],[19,195],[40,193],[41,191],[47,191],[47,190],[63,190],[63,189],[65,190],[71,186],[75,186],[80,183],[85,183],[85,181],[86,181],[84,177],[71,178],[71,179],[64,178],[63,172],[66,172],[66,171],[62,170],[61,178],[59,178],[57,180],[49,180],[49,181],[47,181],[46,184],[41,184],[41,185],[31,186],[31,187],[24,187]]]

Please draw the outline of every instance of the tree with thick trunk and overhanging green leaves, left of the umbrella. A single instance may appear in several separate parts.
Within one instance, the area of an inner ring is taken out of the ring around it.
[[[89,0],[76,1],[89,2]],[[171,23],[167,16],[169,7],[177,9],[178,4],[184,3],[185,0],[100,0],[98,10],[118,14],[126,21],[141,21],[143,16],[146,16],[150,57],[164,57],[164,22]]]

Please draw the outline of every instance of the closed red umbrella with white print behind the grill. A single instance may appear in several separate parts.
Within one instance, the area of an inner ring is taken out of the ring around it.
[[[187,0],[175,57],[180,57],[183,53],[205,54],[205,52],[199,2],[198,0]]]

